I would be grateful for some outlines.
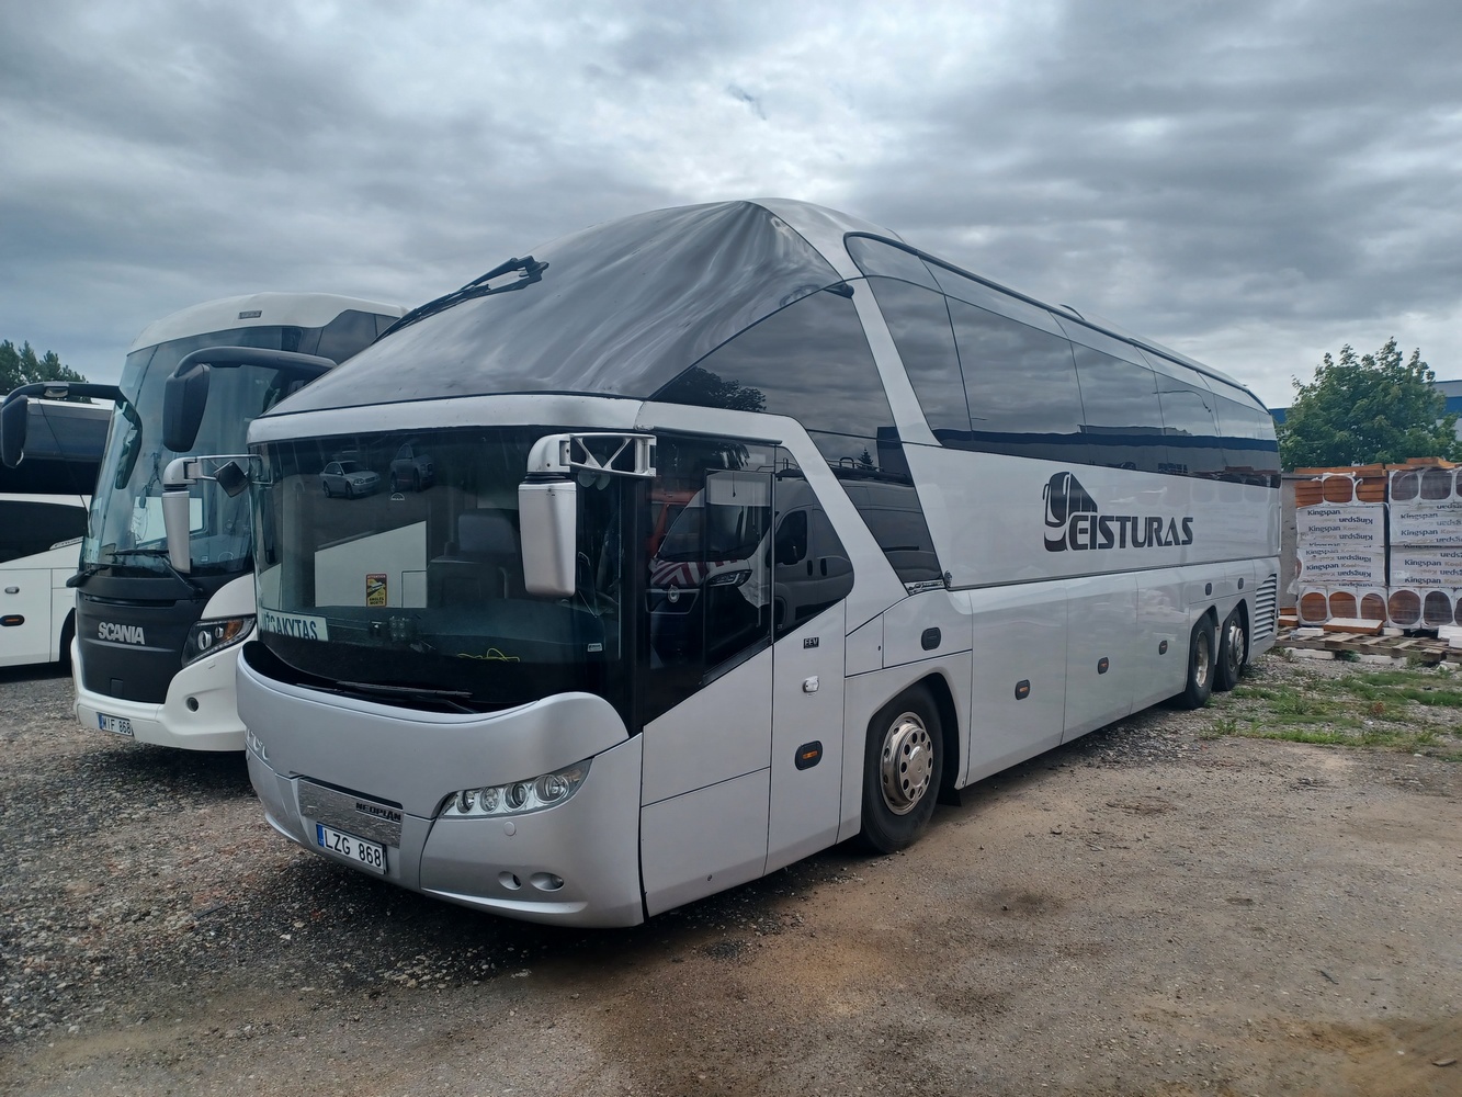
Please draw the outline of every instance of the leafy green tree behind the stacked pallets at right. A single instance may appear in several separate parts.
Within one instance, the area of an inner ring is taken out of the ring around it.
[[[1294,382],[1294,407],[1276,430],[1284,467],[1458,456],[1458,417],[1446,414],[1436,379],[1420,348],[1404,360],[1395,339],[1376,354],[1357,355],[1349,344],[1339,358],[1326,354],[1308,385]]]

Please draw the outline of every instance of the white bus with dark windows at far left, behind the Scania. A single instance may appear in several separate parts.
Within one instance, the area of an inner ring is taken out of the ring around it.
[[[22,414],[29,459],[0,464],[0,667],[70,658],[66,581],[76,575],[111,408],[26,399]]]

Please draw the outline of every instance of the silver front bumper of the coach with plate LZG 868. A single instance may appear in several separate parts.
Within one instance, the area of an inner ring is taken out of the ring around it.
[[[266,761],[249,750],[249,777],[269,822],[319,856],[351,863],[317,844],[316,823],[323,823],[382,841],[386,879],[411,891],[528,921],[643,920],[640,739],[624,734],[608,702],[564,695],[481,717],[425,714],[326,699],[272,683],[246,663],[238,696],[268,753]],[[583,785],[557,807],[437,818],[442,802],[461,788],[526,780],[585,759]],[[320,785],[336,793],[329,804],[316,794]],[[383,813],[399,816],[399,837],[383,834]]]

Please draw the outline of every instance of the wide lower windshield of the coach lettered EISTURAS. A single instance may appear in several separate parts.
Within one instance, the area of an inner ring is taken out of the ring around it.
[[[449,711],[570,690],[621,704],[621,529],[633,487],[580,478],[577,591],[528,595],[518,486],[545,433],[392,431],[259,449],[259,638],[278,673]],[[433,475],[396,477],[401,490],[389,490],[405,446]],[[346,490],[339,470],[352,465],[358,484]]]

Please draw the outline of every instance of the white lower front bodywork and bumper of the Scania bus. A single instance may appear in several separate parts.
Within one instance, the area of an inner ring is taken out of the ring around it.
[[[199,620],[247,617],[254,611],[254,576],[232,579],[208,600]],[[173,746],[183,750],[243,750],[244,723],[234,705],[234,664],[238,648],[253,639],[250,629],[240,644],[190,663],[168,683],[161,705],[95,693],[82,676],[80,645],[72,645],[72,671],[76,685],[76,718],[83,727],[102,727],[101,717],[123,717],[132,724],[137,743]],[[192,705],[189,702],[193,702]]]

